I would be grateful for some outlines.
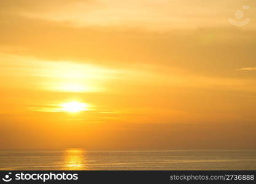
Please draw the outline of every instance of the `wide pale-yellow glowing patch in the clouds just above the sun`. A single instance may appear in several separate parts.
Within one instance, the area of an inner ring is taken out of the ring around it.
[[[120,72],[93,64],[74,61],[36,61],[41,69],[31,70],[41,80],[41,90],[68,93],[99,93],[105,91],[106,82],[115,79]],[[30,64],[30,63],[29,63]]]

